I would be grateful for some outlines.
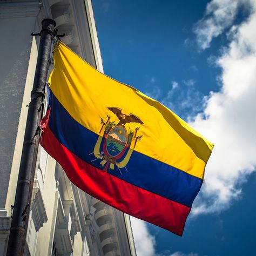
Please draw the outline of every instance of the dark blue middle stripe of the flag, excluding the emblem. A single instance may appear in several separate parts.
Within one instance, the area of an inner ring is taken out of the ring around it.
[[[59,142],[87,163],[103,169],[100,165],[102,159],[97,159],[93,154],[98,134],[77,123],[50,89],[49,105],[51,107],[49,127]],[[108,172],[133,185],[188,207],[191,207],[203,183],[200,178],[137,151],[133,151],[126,169],[127,171],[125,168],[119,171],[117,166],[114,166],[114,170]]]

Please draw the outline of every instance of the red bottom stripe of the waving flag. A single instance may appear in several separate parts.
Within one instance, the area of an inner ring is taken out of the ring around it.
[[[49,126],[44,130],[41,144],[63,167],[72,183],[86,193],[136,218],[182,235],[190,207],[134,186],[86,163],[59,143]]]

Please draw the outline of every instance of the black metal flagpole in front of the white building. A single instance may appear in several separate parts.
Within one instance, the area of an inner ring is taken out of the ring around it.
[[[14,212],[12,215],[11,229],[6,255],[23,255],[28,217],[32,197],[33,179],[35,176],[37,152],[39,144],[39,123],[43,113],[43,100],[45,83],[48,75],[49,58],[53,30],[56,26],[52,19],[42,21],[42,31],[36,73],[31,91],[31,101],[26,120],[26,130],[22,149],[21,165],[17,181]]]

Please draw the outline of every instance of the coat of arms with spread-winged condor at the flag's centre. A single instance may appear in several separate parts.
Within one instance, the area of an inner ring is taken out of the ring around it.
[[[101,159],[100,164],[103,167],[103,171],[114,170],[116,166],[120,174],[122,174],[122,168],[127,171],[126,165],[136,147],[137,141],[142,139],[142,135],[138,135],[139,127],[134,129],[134,131],[130,128],[127,131],[125,125],[127,123],[143,125],[143,122],[135,114],[124,114],[119,107],[107,107],[107,109],[116,114],[119,122],[116,124],[115,121],[111,121],[108,115],[105,121],[101,118],[100,124],[102,127],[93,150],[96,159],[92,161]]]

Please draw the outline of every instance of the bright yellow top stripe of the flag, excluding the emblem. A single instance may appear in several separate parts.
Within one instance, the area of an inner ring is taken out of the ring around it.
[[[213,144],[156,100],[131,86],[107,77],[87,64],[63,43],[55,47],[55,69],[49,79],[51,90],[70,115],[99,134],[100,118],[119,122],[107,107],[133,113],[144,125],[127,123],[127,130],[139,127],[136,151],[203,178]],[[70,131],[72,132],[72,131]]]

